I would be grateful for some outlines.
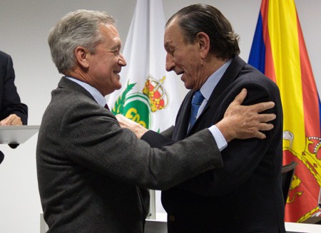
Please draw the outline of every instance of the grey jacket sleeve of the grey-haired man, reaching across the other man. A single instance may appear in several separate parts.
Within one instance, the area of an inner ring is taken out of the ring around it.
[[[51,136],[49,131],[44,132],[45,137]],[[159,150],[138,140],[131,130],[122,129],[112,113],[83,103],[63,111],[60,137],[64,154],[73,162],[154,190],[168,189],[204,170],[222,166],[220,152],[207,129]]]

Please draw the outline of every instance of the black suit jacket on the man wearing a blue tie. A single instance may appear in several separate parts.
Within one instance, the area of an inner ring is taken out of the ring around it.
[[[222,152],[223,168],[162,192],[169,233],[285,232],[281,189],[282,105],[275,83],[236,56],[188,135],[193,92],[186,95],[178,112],[173,140],[182,140],[218,123],[242,88],[248,89],[244,105],[275,102],[275,107],[268,111],[277,115],[272,121],[273,130],[265,132],[265,140],[231,141]],[[142,139],[156,147],[170,144],[150,131]],[[203,150],[201,146],[199,150]]]

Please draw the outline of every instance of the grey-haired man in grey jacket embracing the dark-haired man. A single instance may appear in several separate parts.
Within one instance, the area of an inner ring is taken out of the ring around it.
[[[64,76],[53,90],[39,130],[37,175],[49,232],[143,232],[148,190],[165,190],[222,167],[213,137],[265,138],[260,130],[274,103],[242,106],[238,95],[220,123],[161,149],[122,129],[105,95],[121,88],[121,39],[114,19],[78,10],[49,33],[51,56]],[[250,126],[250,127],[248,127]],[[202,148],[202,150],[200,150]],[[195,156],[195,154],[197,156]]]

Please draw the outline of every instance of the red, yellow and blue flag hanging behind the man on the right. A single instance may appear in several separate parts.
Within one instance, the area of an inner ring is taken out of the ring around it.
[[[294,0],[263,0],[249,62],[280,88],[283,165],[298,163],[285,205],[286,222],[320,214],[320,99]]]

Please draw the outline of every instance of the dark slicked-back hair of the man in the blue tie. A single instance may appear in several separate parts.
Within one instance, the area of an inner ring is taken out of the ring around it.
[[[177,11],[168,19],[166,27],[177,19],[185,43],[194,43],[200,32],[210,37],[210,52],[218,58],[232,58],[240,53],[239,36],[228,19],[214,6],[193,4]]]

